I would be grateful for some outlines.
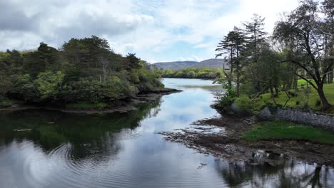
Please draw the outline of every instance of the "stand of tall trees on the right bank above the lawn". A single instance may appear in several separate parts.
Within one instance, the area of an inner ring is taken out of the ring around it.
[[[275,23],[272,36],[257,14],[241,28],[234,27],[216,49],[231,67],[224,71],[224,100],[231,102],[241,94],[254,100],[270,93],[275,103],[280,91],[297,90],[298,79],[303,79],[318,93],[323,110],[332,108],[323,87],[333,82],[333,20],[332,0],[303,0]]]

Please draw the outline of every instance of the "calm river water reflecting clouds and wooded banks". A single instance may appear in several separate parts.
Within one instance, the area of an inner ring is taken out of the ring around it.
[[[0,187],[334,187],[329,167],[260,153],[259,165],[236,164],[163,140],[157,132],[217,115],[210,80],[164,83],[184,91],[129,114],[0,113]]]

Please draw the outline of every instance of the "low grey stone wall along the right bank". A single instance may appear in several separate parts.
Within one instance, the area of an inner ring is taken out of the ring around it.
[[[287,120],[303,125],[312,125],[314,127],[323,127],[334,130],[334,115],[325,115],[314,113],[313,111],[302,111],[295,109],[277,109],[272,113],[268,108],[264,108],[260,112],[260,117],[265,119]]]

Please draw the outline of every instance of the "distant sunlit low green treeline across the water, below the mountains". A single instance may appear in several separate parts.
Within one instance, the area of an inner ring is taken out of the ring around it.
[[[221,68],[184,68],[181,70],[156,69],[156,73],[163,78],[221,78],[223,70]]]

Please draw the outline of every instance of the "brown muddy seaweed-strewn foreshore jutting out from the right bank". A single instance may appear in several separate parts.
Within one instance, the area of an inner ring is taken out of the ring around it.
[[[254,155],[260,152],[263,155],[275,153],[305,162],[334,165],[334,145],[308,140],[267,138],[251,141],[242,138],[246,132],[252,131],[255,122],[257,122],[255,117],[223,115],[223,117],[194,122],[193,130],[161,132],[161,135],[164,135],[165,139],[171,142],[179,142],[198,152],[231,162],[253,163]],[[196,128],[196,126],[198,127]],[[221,131],[210,132],[216,128],[221,129]],[[203,132],[203,130],[206,131]],[[266,157],[263,157],[263,160],[272,166],[278,162]]]

